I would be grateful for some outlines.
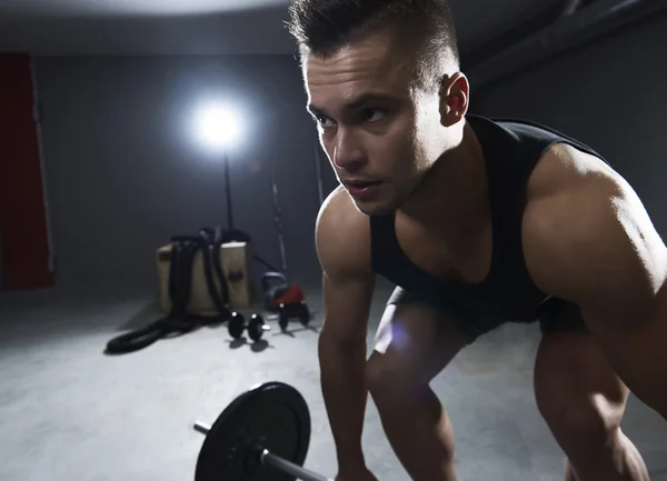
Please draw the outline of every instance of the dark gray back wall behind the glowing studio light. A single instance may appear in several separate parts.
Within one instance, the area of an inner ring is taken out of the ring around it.
[[[293,58],[38,58],[36,72],[60,285],[152,287],[156,248],[226,224],[222,163],[192,140],[208,96],[248,132],[230,154],[236,227],[280,265],[275,167],[290,273],[317,275],[317,134]]]

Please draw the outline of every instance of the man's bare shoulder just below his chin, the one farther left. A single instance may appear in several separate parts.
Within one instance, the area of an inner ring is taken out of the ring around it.
[[[327,275],[354,277],[371,272],[370,222],[339,187],[322,203],[316,223],[316,245]]]

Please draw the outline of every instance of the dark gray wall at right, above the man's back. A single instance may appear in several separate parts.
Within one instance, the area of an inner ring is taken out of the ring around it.
[[[667,14],[480,90],[472,111],[545,123],[589,144],[667,234]]]

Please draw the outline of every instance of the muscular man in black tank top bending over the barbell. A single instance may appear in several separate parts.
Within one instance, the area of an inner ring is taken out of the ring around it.
[[[667,251],[630,186],[574,139],[468,114],[444,1],[296,0],[290,16],[340,181],[316,232],[337,480],[375,479],[368,393],[410,477],[455,480],[429,382],[514,321],[544,333],[535,394],[566,479],[647,480],[619,424],[629,391],[667,419]],[[376,274],[398,288],[367,360]]]

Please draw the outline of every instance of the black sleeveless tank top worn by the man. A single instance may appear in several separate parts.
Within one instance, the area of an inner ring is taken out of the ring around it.
[[[556,143],[568,143],[603,158],[577,140],[537,123],[470,114],[466,118],[481,144],[488,174],[492,255],[487,278],[479,283],[460,283],[419,269],[398,243],[394,213],[370,218],[374,270],[436,304],[528,322],[551,299],[535,285],[524,260],[521,220],[528,178],[545,151]]]

